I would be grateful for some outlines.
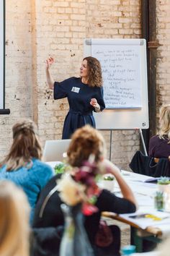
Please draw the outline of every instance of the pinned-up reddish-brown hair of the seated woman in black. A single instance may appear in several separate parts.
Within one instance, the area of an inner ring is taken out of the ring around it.
[[[99,162],[106,155],[106,146],[102,135],[89,125],[76,130],[71,137],[67,150],[68,163],[71,166],[81,166],[93,154],[94,160]]]

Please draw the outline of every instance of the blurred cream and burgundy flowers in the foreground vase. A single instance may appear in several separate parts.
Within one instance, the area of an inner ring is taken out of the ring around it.
[[[63,174],[58,181],[61,200],[70,206],[81,202],[81,211],[86,216],[96,213],[98,208],[95,203],[101,192],[101,189],[97,186],[97,181],[104,171],[102,166],[97,166],[94,161],[89,159],[89,161],[83,163],[83,166],[73,168],[73,175]]]

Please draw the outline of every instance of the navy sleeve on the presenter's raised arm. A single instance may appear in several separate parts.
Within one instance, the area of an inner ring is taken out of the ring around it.
[[[68,81],[69,81],[69,79],[63,80],[63,82],[55,82],[54,83],[53,96],[54,96],[55,100],[67,97],[67,95],[68,95]]]

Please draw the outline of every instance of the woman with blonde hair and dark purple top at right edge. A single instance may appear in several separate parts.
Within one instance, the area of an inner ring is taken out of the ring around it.
[[[170,155],[170,104],[162,106],[159,117],[159,133],[149,141],[149,156],[168,158]]]

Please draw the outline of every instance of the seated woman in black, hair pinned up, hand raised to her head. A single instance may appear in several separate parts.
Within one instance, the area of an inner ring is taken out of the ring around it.
[[[103,248],[99,250],[95,245],[95,237],[99,230],[101,214],[102,211],[133,213],[136,209],[135,197],[128,184],[126,184],[125,180],[122,178],[117,166],[107,161],[105,158],[105,143],[102,135],[97,131],[97,129],[86,125],[77,129],[71,137],[71,143],[67,151],[68,163],[73,167],[80,167],[83,165],[84,161],[89,160],[89,156],[91,154],[94,155],[95,163],[102,165],[106,169],[109,168],[109,172],[115,176],[118,184],[120,185],[122,198],[117,197],[107,189],[101,189],[96,202],[98,211],[93,213],[91,216],[84,216],[84,226],[86,228],[89,241],[91,242],[92,247],[94,247],[95,255],[110,255],[110,251],[108,251],[109,249],[112,250],[112,255],[117,255],[116,252],[114,254],[112,246],[105,250],[103,250]],[[55,189],[56,182],[58,182],[58,179],[60,178],[61,174],[57,174],[50,179],[50,182],[48,182],[45,188],[42,189],[35,208],[35,217],[33,221],[33,227],[36,228],[36,231],[37,228],[56,228],[64,225],[63,212],[61,210],[61,197],[59,196],[59,192]],[[118,244],[117,250],[119,250],[120,234],[119,230],[116,232],[117,234],[114,237],[113,243]]]

